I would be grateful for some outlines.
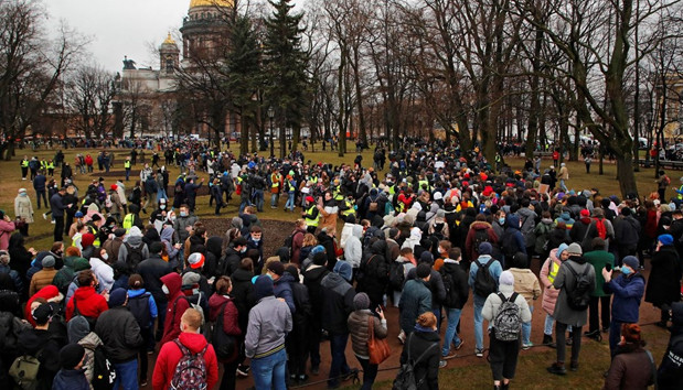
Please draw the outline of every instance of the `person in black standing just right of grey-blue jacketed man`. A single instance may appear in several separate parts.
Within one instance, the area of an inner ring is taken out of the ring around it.
[[[289,375],[299,382],[308,379],[306,375],[306,361],[309,353],[310,324],[313,315],[311,302],[309,300],[308,288],[299,282],[299,271],[295,266],[289,266],[285,270],[292,277],[291,293],[295,301],[296,312],[292,315],[294,328],[287,335],[287,354]]]

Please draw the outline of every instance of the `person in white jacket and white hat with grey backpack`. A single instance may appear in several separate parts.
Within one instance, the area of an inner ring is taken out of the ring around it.
[[[520,354],[519,333],[522,324],[531,323],[531,310],[524,295],[515,292],[520,286],[515,285],[515,275],[511,271],[501,272],[499,289],[498,293],[487,297],[481,311],[482,317],[493,324],[489,358],[493,389],[497,390],[508,389],[514,378]],[[515,318],[516,323],[506,321]]]

